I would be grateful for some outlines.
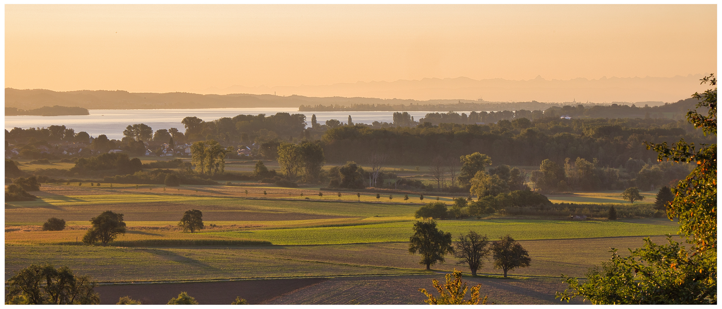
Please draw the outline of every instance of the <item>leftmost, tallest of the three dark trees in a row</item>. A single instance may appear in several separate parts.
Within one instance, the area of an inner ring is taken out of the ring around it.
[[[453,252],[451,233],[444,233],[436,228],[434,220],[423,220],[414,223],[414,235],[409,238],[409,254],[421,254],[419,264],[431,265],[444,261],[444,256]]]

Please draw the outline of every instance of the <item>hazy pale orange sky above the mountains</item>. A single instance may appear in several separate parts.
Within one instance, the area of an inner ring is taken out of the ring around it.
[[[686,76],[716,5],[6,5],[6,87]]]

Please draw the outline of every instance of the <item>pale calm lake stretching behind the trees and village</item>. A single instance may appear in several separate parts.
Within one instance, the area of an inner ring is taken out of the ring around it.
[[[323,124],[326,120],[336,119],[347,122],[349,115],[355,123],[393,122],[393,112],[298,112],[292,107],[256,107],[256,108],[209,108],[209,109],[90,109],[90,115],[82,116],[5,116],[5,129],[13,127],[48,127],[50,125],[65,125],[76,133],[85,131],[92,136],[108,135],[110,139],[123,138],[123,130],[128,125],[144,123],[153,128],[168,129],[176,127],[181,132],[186,129],[181,124],[185,117],[196,116],[205,121],[216,120],[221,117],[235,117],[237,115],[275,115],[277,112],[306,115],[306,123],[310,125],[311,115]],[[464,111],[462,111],[464,112]],[[414,120],[424,117],[429,112],[409,112]],[[461,113],[461,112],[458,112]],[[467,111],[468,115],[469,112]]]

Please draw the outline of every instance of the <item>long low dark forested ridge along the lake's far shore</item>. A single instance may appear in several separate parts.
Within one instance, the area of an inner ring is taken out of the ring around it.
[[[615,102],[619,104],[657,105],[661,102]],[[330,110],[388,110],[412,111],[502,111],[518,109],[548,109],[549,107],[576,107],[579,102],[487,102],[464,99],[378,99],[364,97],[288,97],[272,94],[191,94],[187,92],[131,93],[123,90],[51,91],[47,89],[5,89],[5,107],[38,109],[53,105],[82,107],[85,109],[184,109],[221,107],[300,107],[302,112]],[[583,104],[586,108],[593,104]]]

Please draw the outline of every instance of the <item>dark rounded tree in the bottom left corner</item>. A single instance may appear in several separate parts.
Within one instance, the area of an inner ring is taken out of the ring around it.
[[[30,264],[7,279],[7,305],[98,305],[97,283],[68,267]]]

